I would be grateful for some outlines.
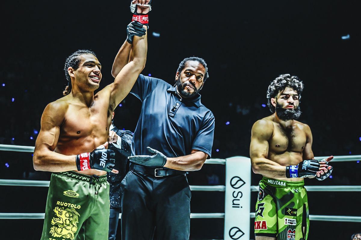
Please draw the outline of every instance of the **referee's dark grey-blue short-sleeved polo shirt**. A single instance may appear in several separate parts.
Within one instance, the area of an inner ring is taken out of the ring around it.
[[[142,101],[142,112],[132,140],[132,155],[149,155],[147,147],[167,157],[203,151],[210,158],[214,116],[195,99],[181,99],[176,87],[153,77],[139,75],[131,93]]]

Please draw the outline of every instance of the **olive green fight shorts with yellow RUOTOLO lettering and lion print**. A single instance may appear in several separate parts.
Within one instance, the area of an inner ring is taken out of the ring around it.
[[[42,240],[107,240],[109,183],[106,175],[52,173]]]

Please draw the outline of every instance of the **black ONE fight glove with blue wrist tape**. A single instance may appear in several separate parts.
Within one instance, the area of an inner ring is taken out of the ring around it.
[[[319,171],[319,162],[314,159],[303,160],[297,165],[286,167],[286,177],[310,177]]]

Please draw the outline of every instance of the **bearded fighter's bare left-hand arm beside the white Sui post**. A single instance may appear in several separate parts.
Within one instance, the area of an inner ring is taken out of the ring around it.
[[[286,177],[286,166],[281,166],[268,159],[268,140],[272,137],[272,134],[273,124],[271,122],[258,120],[253,124],[249,149],[252,170],[254,173],[270,178]]]

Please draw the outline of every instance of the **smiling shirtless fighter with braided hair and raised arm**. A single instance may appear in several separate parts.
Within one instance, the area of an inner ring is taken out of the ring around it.
[[[131,48],[134,58],[113,83],[95,95],[102,77],[95,53],[78,50],[66,59],[64,70],[69,82],[64,91],[66,96],[45,107],[33,158],[35,170],[53,172],[42,240],[108,239],[110,208],[106,172],[118,172],[112,169],[114,151],[106,149],[109,126],[112,112],[145,66],[145,29],[137,37],[128,34],[134,40],[132,44],[125,41],[123,46]]]

